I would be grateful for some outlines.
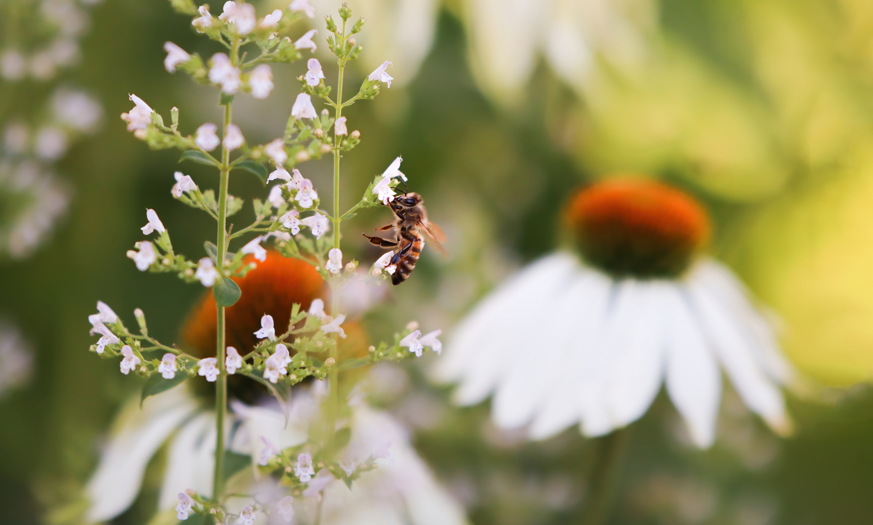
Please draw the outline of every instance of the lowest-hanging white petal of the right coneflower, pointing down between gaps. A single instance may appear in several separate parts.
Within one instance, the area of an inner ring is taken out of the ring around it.
[[[668,329],[667,393],[685,419],[694,443],[711,446],[721,399],[718,363],[681,288],[668,290],[663,312]]]

